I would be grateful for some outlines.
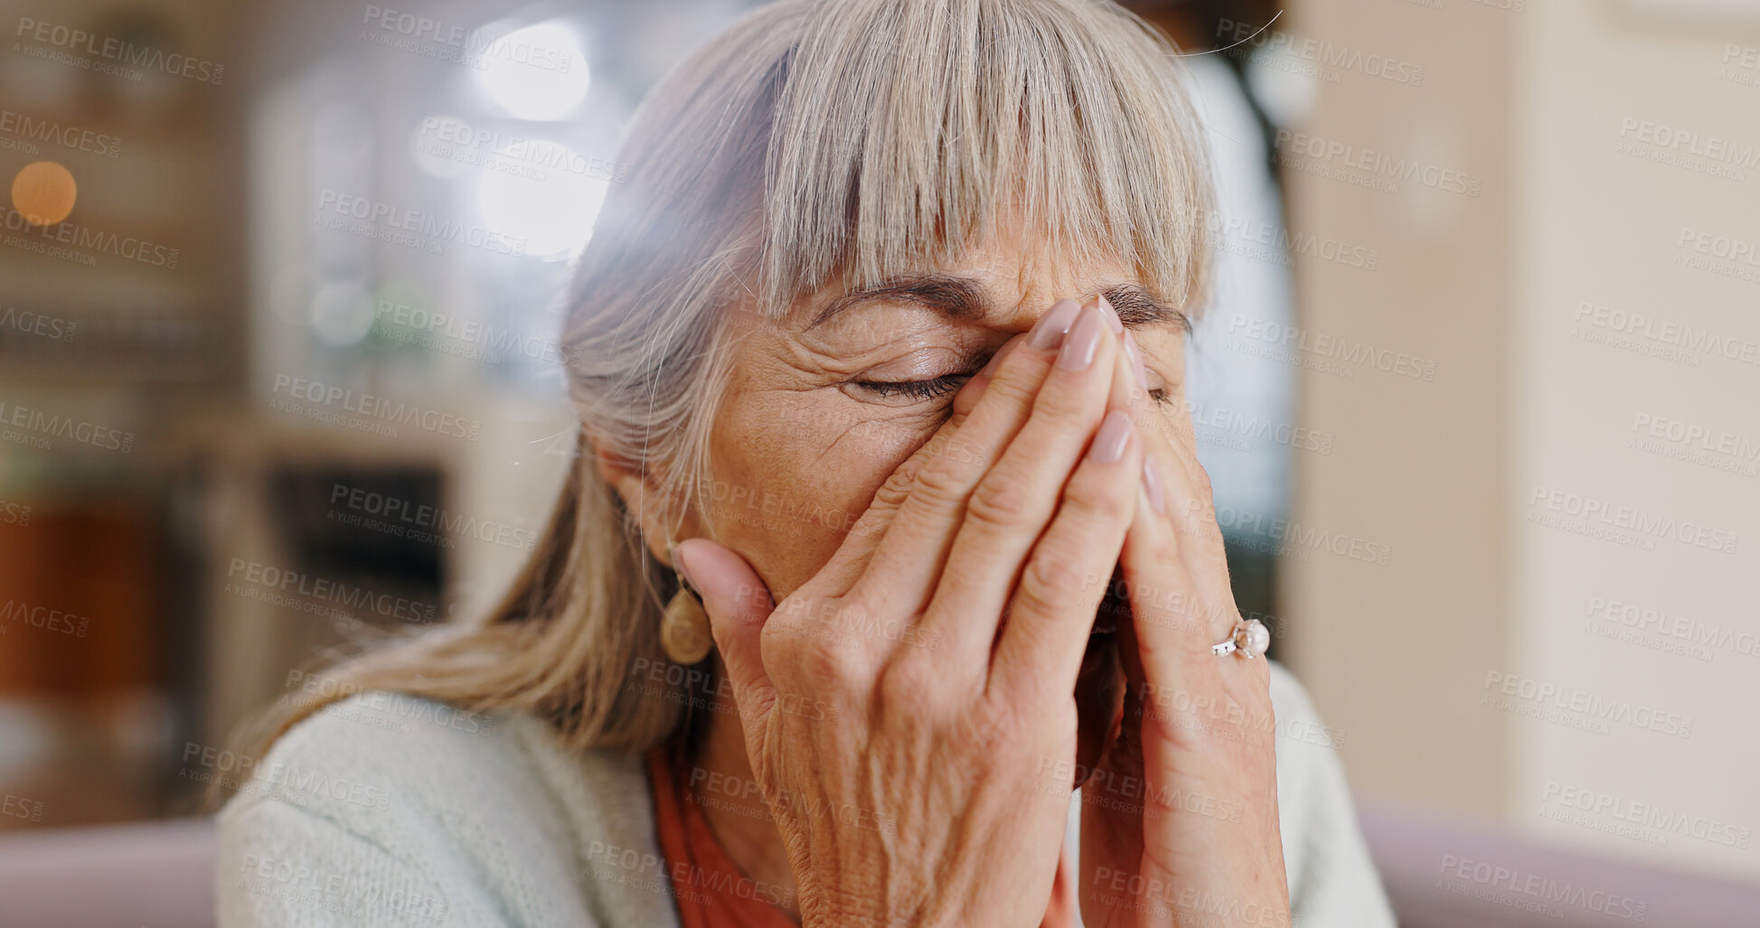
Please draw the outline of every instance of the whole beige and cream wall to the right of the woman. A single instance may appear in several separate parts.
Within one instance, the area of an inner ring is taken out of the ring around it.
[[[1753,879],[1760,19],[1644,7],[1280,23],[1320,74],[1292,227],[1380,259],[1299,262],[1294,340],[1241,335],[1338,435],[1292,523],[1389,553],[1287,574],[1355,787]]]

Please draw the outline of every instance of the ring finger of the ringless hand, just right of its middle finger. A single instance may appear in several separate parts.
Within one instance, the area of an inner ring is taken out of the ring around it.
[[[1112,409],[1063,486],[1056,516],[1033,544],[996,641],[991,685],[1010,699],[1070,697],[1137,511],[1142,438],[1132,423],[1135,372],[1118,352],[1111,373],[1105,386]],[[1028,430],[1021,435],[1026,438]]]

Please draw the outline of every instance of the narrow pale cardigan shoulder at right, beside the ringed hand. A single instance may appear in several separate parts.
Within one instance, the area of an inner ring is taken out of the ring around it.
[[[1339,750],[1346,733],[1320,718],[1308,690],[1271,664],[1278,817],[1290,907],[1299,924],[1392,926],[1394,916],[1357,824]]]

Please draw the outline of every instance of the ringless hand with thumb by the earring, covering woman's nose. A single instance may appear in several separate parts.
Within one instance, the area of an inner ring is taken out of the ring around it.
[[[1070,801],[1045,771],[1142,472],[1116,322],[1061,301],[1010,342],[780,604],[679,544],[803,924],[1040,924]]]

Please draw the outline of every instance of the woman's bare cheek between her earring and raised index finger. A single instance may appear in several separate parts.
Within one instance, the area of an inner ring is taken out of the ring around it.
[[[928,440],[855,419],[848,400],[827,393],[730,396],[711,433],[716,537],[778,599],[831,560],[887,475]]]

